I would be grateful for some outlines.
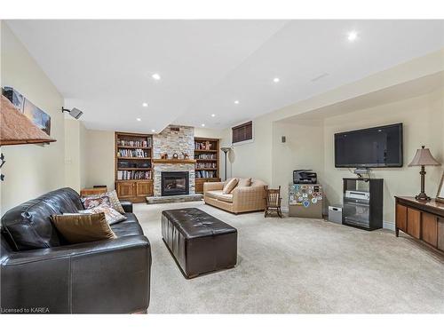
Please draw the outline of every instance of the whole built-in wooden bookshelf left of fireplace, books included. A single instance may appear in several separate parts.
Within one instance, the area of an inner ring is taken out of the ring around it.
[[[153,136],[115,132],[115,190],[119,198],[143,202],[153,194]]]

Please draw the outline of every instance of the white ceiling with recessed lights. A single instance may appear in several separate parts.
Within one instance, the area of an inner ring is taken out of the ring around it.
[[[65,107],[82,109],[88,128],[113,131],[162,131],[170,123],[226,128],[444,47],[444,20],[7,24]]]

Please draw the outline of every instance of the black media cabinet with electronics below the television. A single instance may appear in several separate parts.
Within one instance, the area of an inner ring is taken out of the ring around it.
[[[361,229],[383,227],[384,179],[344,178],[342,224]]]

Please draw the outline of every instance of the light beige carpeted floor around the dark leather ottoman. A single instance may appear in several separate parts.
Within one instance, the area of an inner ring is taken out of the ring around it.
[[[198,207],[238,230],[234,269],[186,280],[162,210]],[[387,230],[235,216],[203,202],[137,204],[153,253],[148,313],[444,313],[444,258]]]

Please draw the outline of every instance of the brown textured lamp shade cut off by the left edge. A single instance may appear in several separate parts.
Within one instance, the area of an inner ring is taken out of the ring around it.
[[[2,96],[0,107],[0,146],[54,142],[44,131]]]

